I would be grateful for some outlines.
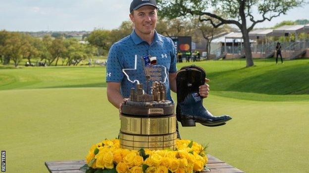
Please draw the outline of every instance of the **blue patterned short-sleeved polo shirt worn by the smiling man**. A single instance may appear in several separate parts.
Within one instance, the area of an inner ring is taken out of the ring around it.
[[[167,73],[177,71],[176,48],[172,39],[159,35],[156,31],[154,31],[154,40],[151,45],[142,40],[133,30],[131,35],[122,38],[110,47],[106,65],[106,82],[121,83],[122,97],[129,98],[131,88],[136,88],[136,82],[130,82],[122,69],[135,69],[136,66],[136,70],[129,70],[130,80],[138,80],[146,91],[146,78],[141,61],[141,57],[146,55],[156,57],[156,65],[164,66]],[[137,57],[136,63],[135,57]],[[165,86],[166,99],[172,101],[168,74]]]

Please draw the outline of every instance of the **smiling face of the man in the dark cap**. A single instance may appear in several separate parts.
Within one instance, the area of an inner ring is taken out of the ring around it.
[[[145,5],[133,11],[130,19],[134,23],[135,31],[142,34],[151,34],[156,26],[157,10],[154,6]]]

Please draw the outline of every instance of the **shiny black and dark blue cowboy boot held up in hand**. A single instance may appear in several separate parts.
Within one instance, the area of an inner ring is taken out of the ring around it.
[[[187,66],[177,71],[177,121],[183,127],[201,123],[205,126],[221,126],[232,119],[228,115],[213,116],[204,106],[199,95],[199,86],[205,84],[206,73],[197,66]]]

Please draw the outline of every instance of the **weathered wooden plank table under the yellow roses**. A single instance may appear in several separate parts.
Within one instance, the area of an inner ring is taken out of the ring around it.
[[[207,157],[207,167],[211,169],[207,173],[244,173],[209,154],[207,154]],[[84,173],[79,171],[79,168],[85,164],[85,160],[45,162],[45,166],[50,173]]]

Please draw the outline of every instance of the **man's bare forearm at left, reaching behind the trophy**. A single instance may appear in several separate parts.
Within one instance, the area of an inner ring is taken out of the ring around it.
[[[123,97],[120,94],[120,83],[107,82],[107,99],[115,107],[120,107],[120,104],[123,103]]]

